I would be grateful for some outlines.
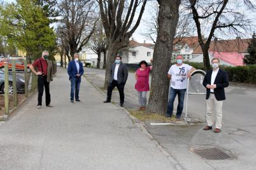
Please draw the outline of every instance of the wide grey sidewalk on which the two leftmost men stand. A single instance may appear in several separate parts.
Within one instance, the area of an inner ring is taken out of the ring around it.
[[[81,103],[69,102],[70,82],[59,69],[52,105],[37,94],[0,126],[0,169],[176,169],[124,110],[82,79]]]

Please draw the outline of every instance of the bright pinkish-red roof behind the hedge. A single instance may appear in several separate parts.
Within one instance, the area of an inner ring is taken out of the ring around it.
[[[218,51],[211,51],[211,55],[214,58],[219,58],[224,62],[230,63],[232,65],[244,65],[243,58],[244,56],[237,53],[237,52],[218,52]]]

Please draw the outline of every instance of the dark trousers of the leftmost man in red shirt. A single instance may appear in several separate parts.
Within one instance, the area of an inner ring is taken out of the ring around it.
[[[49,105],[51,102],[50,82],[47,82],[47,76],[38,75],[38,105],[42,105],[43,86],[45,86],[45,103]]]

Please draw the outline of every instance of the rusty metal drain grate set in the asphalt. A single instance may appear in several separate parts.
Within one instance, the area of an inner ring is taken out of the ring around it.
[[[190,148],[192,152],[199,155],[203,159],[208,160],[224,160],[231,159],[231,156],[226,154],[222,149],[217,147],[208,147],[208,148]]]

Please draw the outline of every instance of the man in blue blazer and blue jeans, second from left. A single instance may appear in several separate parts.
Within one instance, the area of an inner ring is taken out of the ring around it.
[[[83,64],[79,61],[79,54],[74,54],[74,60],[68,64],[68,75],[69,81],[71,82],[71,91],[70,91],[70,101],[74,103],[74,93],[76,101],[81,101],[79,99],[79,89],[81,76],[83,75]]]

